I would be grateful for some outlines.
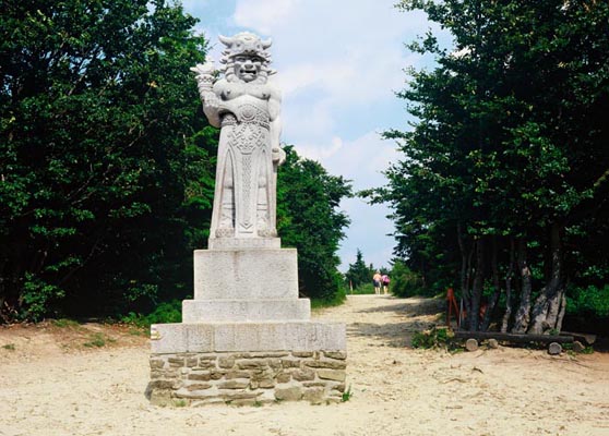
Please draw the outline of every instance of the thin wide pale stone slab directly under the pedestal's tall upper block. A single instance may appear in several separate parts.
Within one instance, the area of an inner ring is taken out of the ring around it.
[[[308,299],[184,300],[182,323],[308,320]]]

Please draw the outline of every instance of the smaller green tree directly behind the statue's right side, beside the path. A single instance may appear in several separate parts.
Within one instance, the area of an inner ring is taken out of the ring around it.
[[[326,302],[345,294],[336,252],[349,225],[339,210],[341,199],[351,195],[349,182],[331,175],[318,162],[302,159],[285,147],[286,162],[277,179],[277,231],[284,246],[298,249],[300,293]]]

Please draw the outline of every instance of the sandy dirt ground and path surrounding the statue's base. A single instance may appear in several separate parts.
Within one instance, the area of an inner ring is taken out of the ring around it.
[[[609,435],[607,353],[407,347],[441,304],[357,295],[314,313],[347,323],[353,397],[331,405],[157,408],[144,397],[145,338],[96,326],[2,328],[0,436]],[[115,342],[79,347],[96,328]]]

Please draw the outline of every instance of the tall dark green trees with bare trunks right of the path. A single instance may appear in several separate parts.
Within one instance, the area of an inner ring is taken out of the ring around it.
[[[394,208],[396,254],[426,283],[430,276],[458,282],[473,330],[488,327],[502,294],[504,329],[560,329],[566,283],[582,277],[572,244],[598,231],[607,239],[595,217],[608,207],[600,113],[609,104],[609,5],[405,0],[399,8],[426,11],[454,47],[439,47],[431,33],[410,45],[433,53],[438,66],[413,72],[399,94],[418,119],[414,129],[386,133],[405,158],[374,201]]]

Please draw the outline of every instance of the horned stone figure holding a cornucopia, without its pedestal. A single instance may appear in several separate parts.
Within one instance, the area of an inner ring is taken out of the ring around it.
[[[226,46],[218,77],[213,61],[198,64],[199,93],[210,123],[220,128],[210,244],[213,240],[276,238],[280,94],[268,75],[271,40],[243,32]]]

